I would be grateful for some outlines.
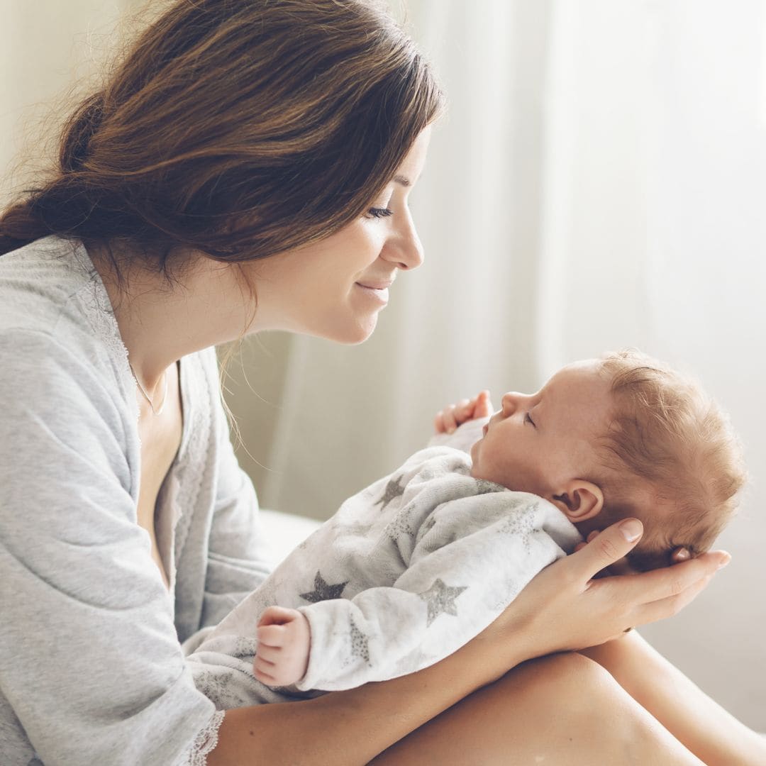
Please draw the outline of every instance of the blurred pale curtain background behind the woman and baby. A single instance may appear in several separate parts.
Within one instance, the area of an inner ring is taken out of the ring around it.
[[[0,0],[0,204],[140,5]],[[732,564],[642,632],[766,730],[766,3],[391,5],[450,102],[411,195],[426,260],[365,344],[267,333],[231,363],[261,505],[326,519],[444,404],[637,346],[703,381],[751,472]]]

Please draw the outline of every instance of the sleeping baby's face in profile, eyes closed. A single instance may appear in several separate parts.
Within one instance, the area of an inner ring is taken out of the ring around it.
[[[594,442],[608,427],[609,385],[588,360],[561,368],[536,394],[504,394],[471,448],[471,476],[548,499],[569,480],[590,480]]]

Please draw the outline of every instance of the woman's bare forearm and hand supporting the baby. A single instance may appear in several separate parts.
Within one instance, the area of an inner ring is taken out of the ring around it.
[[[545,568],[483,633],[434,666],[303,702],[228,711],[209,766],[367,763],[524,660],[603,643],[676,614],[728,560],[710,553],[672,569],[594,581],[638,542],[640,535],[624,536],[625,524]]]

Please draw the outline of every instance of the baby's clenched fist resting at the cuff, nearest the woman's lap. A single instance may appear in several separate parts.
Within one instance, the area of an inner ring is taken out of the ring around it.
[[[253,672],[267,686],[288,686],[300,681],[309,666],[309,620],[296,609],[268,607],[256,630],[258,648]]]

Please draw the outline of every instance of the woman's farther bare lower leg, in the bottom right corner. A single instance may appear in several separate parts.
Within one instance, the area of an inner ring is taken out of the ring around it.
[[[708,766],[766,764],[766,739],[695,686],[635,631],[583,654]]]

